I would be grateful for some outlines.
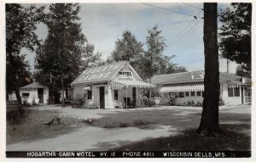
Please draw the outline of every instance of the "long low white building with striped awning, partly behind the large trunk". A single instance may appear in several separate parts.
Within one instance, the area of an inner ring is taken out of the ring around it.
[[[176,103],[203,102],[204,71],[183,72],[168,75],[154,75],[151,83],[155,84],[156,92],[160,92],[160,104],[169,101],[173,92]],[[251,82],[244,77],[229,73],[219,73],[220,95],[225,104],[250,104]]]

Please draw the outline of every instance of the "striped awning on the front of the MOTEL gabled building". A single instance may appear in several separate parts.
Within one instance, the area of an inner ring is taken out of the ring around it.
[[[125,87],[155,87],[153,84],[149,84],[144,81],[133,81],[133,80],[118,80],[118,81],[111,81],[110,87],[112,89],[122,89]]]

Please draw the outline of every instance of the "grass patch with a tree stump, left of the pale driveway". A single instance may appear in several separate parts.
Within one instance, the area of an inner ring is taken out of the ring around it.
[[[15,142],[31,142],[38,139],[56,137],[61,134],[66,134],[74,131],[79,126],[83,126],[81,120],[61,116],[61,119],[67,124],[59,126],[47,126],[44,123],[49,122],[55,116],[58,116],[57,111],[38,109],[26,109],[26,116],[20,122],[11,120],[16,115],[16,110],[7,112],[6,124],[6,143]]]

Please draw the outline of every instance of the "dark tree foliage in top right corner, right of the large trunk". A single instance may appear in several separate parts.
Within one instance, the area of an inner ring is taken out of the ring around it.
[[[241,64],[252,74],[252,3],[231,3],[220,11],[220,51],[225,59]]]

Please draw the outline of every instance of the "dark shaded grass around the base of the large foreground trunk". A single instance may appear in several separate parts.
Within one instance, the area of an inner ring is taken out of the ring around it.
[[[195,129],[182,131],[171,137],[148,139],[143,142],[133,142],[112,151],[249,151],[251,136],[242,133],[241,129],[250,129],[250,125],[222,125],[226,137],[200,137]]]

